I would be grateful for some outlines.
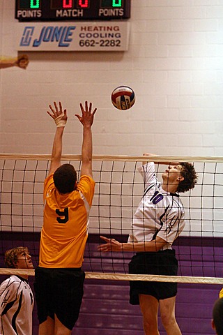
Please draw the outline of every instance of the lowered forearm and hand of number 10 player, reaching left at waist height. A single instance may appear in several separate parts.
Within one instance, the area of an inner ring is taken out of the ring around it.
[[[159,251],[167,241],[156,237],[153,241],[148,242],[138,242],[138,243],[121,243],[116,241],[116,239],[108,239],[105,236],[100,236],[100,238],[105,241],[105,244],[100,244],[98,246],[98,251],[134,251],[134,252],[144,252],[144,251]]]

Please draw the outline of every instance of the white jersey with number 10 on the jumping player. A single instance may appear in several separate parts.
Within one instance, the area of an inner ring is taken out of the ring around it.
[[[152,241],[158,236],[167,241],[161,250],[171,249],[185,227],[183,204],[178,194],[162,189],[154,163],[142,165],[138,170],[144,178],[144,196],[134,214],[128,241]]]

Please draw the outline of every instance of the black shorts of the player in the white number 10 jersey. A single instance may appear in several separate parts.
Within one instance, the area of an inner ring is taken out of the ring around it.
[[[157,253],[137,253],[129,264],[130,274],[155,274],[176,276],[178,261],[174,250]],[[139,294],[152,295],[157,300],[175,297],[177,283],[158,281],[130,281],[130,304],[139,305]]]

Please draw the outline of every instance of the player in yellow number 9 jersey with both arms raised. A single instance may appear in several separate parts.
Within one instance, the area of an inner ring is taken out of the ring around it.
[[[89,211],[95,182],[92,176],[92,133],[96,108],[80,104],[83,125],[82,168],[61,165],[62,137],[68,119],[61,102],[47,113],[56,123],[52,158],[44,184],[44,218],[40,238],[40,261],[36,269],[36,304],[39,335],[70,335],[79,316],[84,287],[82,262],[88,237]]]

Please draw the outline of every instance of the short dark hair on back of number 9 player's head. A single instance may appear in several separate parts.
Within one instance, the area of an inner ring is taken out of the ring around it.
[[[70,193],[75,190],[77,172],[71,164],[63,164],[54,172],[54,185],[60,193]]]

